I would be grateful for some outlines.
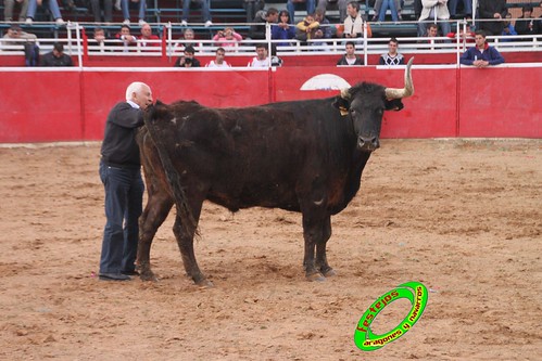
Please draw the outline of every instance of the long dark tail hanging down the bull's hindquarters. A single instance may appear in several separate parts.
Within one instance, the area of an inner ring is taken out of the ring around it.
[[[173,193],[177,215],[180,216],[182,220],[182,230],[186,232],[186,234],[191,234],[191,232],[194,232],[196,235],[199,235],[198,222],[193,218],[192,210],[190,208],[190,205],[188,204],[188,198],[186,196],[185,190],[180,184],[179,172],[177,171],[177,169],[175,169],[172,157],[167,153],[165,143],[161,140],[160,128],[156,125],[156,119],[165,111],[164,107],[165,104],[160,101],[156,101],[156,105],[149,106],[143,117],[144,126],[147,127],[149,136],[151,137],[151,140],[159,152],[160,160],[162,162],[167,182],[169,183],[169,189]]]

